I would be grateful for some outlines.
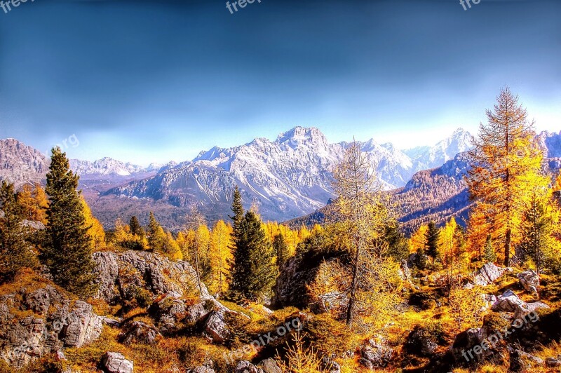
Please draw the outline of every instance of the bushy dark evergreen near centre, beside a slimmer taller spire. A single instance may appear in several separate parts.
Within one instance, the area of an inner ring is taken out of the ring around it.
[[[273,250],[254,212],[246,212],[234,236],[234,261],[229,276],[231,299],[257,301],[271,291],[277,276]]]

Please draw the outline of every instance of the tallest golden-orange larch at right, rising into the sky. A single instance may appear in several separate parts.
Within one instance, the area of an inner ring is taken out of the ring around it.
[[[494,240],[501,242],[505,266],[511,264],[511,246],[521,238],[527,192],[548,184],[540,175],[543,154],[534,137],[534,123],[527,121],[526,109],[505,88],[494,110],[487,110],[487,125],[480,124],[469,152],[467,182],[476,201],[473,211],[486,217]]]

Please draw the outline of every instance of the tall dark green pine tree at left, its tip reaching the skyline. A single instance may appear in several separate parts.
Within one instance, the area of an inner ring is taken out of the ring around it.
[[[53,149],[47,173],[46,243],[44,259],[53,280],[76,294],[87,296],[95,292],[89,226],[83,215],[78,188],[78,175],[70,170],[66,154]]]

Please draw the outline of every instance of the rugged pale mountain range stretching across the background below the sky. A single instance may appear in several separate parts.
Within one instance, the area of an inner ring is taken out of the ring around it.
[[[549,164],[561,156],[561,135],[538,137]],[[111,226],[117,217],[147,218],[149,210],[169,229],[180,229],[191,206],[212,222],[230,212],[234,186],[241,189],[245,207],[257,205],[264,219],[302,224],[310,213],[334,197],[332,170],[348,142],[329,143],[318,128],[295,127],[276,140],[257,138],[238,147],[214,147],[192,161],[143,168],[111,158],[71,160],[81,175],[81,188],[94,214]],[[463,217],[469,201],[463,182],[467,170],[464,151],[471,135],[457,129],[431,147],[400,150],[374,140],[360,142],[377,164],[377,174],[398,205],[400,221],[414,229],[419,219]],[[17,186],[44,182],[48,159],[18,140],[0,140],[0,178]],[[305,217],[305,218],[302,218]],[[300,218],[300,219],[297,219]]]

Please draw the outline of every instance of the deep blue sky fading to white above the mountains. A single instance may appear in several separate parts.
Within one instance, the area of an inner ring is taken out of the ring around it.
[[[561,130],[561,1],[27,1],[0,10],[0,137],[184,161],[316,126],[400,148],[475,131],[502,86]]]

